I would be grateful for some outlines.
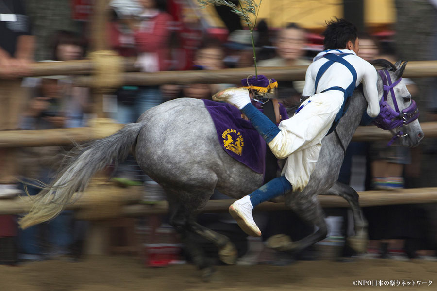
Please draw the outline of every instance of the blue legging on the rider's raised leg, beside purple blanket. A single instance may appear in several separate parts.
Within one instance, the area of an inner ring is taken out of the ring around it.
[[[258,131],[258,133],[263,137],[263,139],[269,143],[275,136],[281,131],[276,124],[271,122],[271,120],[261,113],[255,106],[251,103],[247,104],[241,109],[241,112],[249,118],[252,122],[253,127]]]

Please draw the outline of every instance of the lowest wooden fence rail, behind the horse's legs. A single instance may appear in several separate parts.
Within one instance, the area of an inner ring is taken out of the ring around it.
[[[112,186],[110,183],[91,184],[79,199],[74,199],[73,203],[67,204],[66,209],[78,210],[79,212],[84,211],[86,215],[80,215],[81,218],[84,219],[96,219],[96,217],[102,219],[117,216],[144,216],[166,214],[168,212],[167,201],[159,201],[156,204],[138,204],[142,189],[142,187],[131,187],[129,191],[125,191],[124,188]],[[359,201],[361,207],[437,203],[437,188],[364,191],[358,194],[360,195]],[[210,200],[202,212],[226,212],[234,201],[235,199]],[[349,207],[347,201],[341,197],[319,195],[319,201],[325,208]],[[115,204],[120,207],[120,211],[113,211]],[[30,209],[31,198],[29,197],[0,200],[0,214],[22,214],[29,212]],[[273,211],[284,209],[286,209],[286,207],[282,202],[264,202],[257,206],[255,210]]]

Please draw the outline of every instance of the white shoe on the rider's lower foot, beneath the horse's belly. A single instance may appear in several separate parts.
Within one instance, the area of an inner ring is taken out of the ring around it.
[[[238,226],[248,235],[254,237],[261,236],[261,230],[259,230],[252,216],[253,205],[251,197],[249,195],[235,201],[229,206],[229,213],[236,220]]]

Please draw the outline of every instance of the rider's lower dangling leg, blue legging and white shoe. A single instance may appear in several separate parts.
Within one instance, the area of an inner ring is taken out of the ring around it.
[[[274,178],[251,194],[235,201],[230,207],[229,212],[235,218],[241,229],[249,235],[261,236],[261,231],[253,220],[252,210],[261,202],[284,195],[292,190],[290,182],[285,176]]]

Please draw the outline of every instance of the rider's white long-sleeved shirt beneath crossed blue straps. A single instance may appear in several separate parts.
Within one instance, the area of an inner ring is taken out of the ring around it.
[[[344,57],[344,59],[349,62],[356,71],[356,84],[363,84],[364,97],[367,100],[367,114],[370,117],[376,117],[379,114],[379,96],[378,89],[376,87],[376,82],[378,80],[378,75],[376,69],[369,62],[358,57],[355,52],[349,49],[340,49],[342,53],[351,53]],[[332,64],[326,72],[322,75],[317,86],[317,92],[315,92],[315,80],[320,67],[325,64],[328,59],[323,58],[326,53],[339,53],[336,50],[330,50],[328,52],[322,51],[315,58],[313,63],[308,66],[305,76],[305,86],[303,88],[303,96],[312,96],[315,93],[320,93],[330,87],[339,86],[346,89],[351,82],[353,77],[349,69],[340,63]]]

